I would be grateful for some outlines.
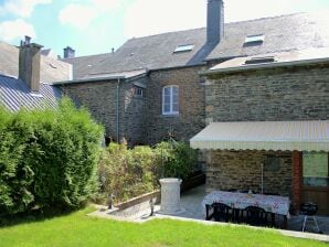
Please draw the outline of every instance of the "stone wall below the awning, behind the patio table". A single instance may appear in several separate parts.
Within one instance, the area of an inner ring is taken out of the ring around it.
[[[274,151],[208,151],[206,190],[262,191],[264,163],[264,193],[291,196],[291,152]],[[269,160],[277,159],[275,165]]]

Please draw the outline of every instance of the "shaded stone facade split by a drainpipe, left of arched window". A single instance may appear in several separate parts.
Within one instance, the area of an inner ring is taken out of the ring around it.
[[[139,78],[144,83],[145,78]],[[106,136],[117,141],[117,80],[74,83],[63,85],[65,95],[77,106],[85,106],[106,129]],[[131,82],[119,84],[119,141],[144,142],[145,97],[135,95]]]

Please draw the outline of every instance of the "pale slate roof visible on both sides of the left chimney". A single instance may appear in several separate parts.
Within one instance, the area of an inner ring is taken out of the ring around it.
[[[71,78],[72,65],[41,55],[41,82],[52,83]],[[18,77],[19,49],[0,42],[0,74]]]

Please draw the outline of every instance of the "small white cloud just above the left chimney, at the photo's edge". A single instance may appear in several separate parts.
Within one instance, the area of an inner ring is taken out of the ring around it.
[[[15,21],[4,21],[0,23],[0,40],[11,42],[24,35],[35,37],[35,31],[32,24],[22,19]]]

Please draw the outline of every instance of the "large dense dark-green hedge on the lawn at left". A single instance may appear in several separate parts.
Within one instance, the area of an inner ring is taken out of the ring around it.
[[[0,109],[0,214],[77,207],[96,192],[103,128],[68,99],[59,108]]]

